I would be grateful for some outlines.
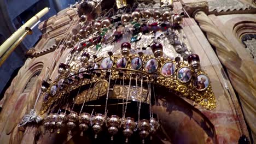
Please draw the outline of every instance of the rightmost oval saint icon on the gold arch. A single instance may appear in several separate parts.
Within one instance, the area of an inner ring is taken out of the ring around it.
[[[194,86],[197,90],[205,90],[209,86],[209,79],[206,75],[198,75],[194,81]]]

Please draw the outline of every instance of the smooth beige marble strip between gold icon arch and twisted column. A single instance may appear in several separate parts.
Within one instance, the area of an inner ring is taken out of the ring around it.
[[[188,35],[187,38],[192,49],[200,56],[202,69],[210,77],[217,100],[217,107],[212,111],[207,111],[199,106],[196,107],[214,124],[219,143],[237,143],[242,135],[241,129],[247,136],[248,131],[236,95],[223,71],[222,64],[220,64],[212,46],[193,19],[184,20],[184,31]],[[225,87],[229,87],[231,95],[226,91]],[[235,105],[232,103],[232,99]],[[235,109],[238,111],[238,116]],[[242,122],[242,128],[238,123],[238,119]]]

